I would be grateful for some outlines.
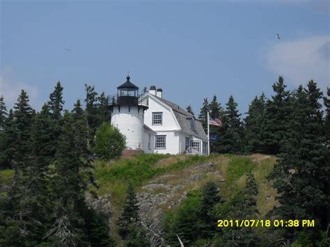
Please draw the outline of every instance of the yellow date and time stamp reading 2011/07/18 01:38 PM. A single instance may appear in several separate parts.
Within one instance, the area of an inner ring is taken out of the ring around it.
[[[219,228],[314,228],[314,220],[218,220]]]

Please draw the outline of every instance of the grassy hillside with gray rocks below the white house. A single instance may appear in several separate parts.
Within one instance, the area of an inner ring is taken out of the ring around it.
[[[251,170],[258,184],[258,211],[263,217],[278,204],[276,190],[266,179],[274,163],[275,157],[262,154],[213,154],[210,157],[141,154],[116,161],[96,161],[94,175],[100,186],[97,192],[111,195],[115,223],[129,183],[139,195],[148,195],[157,201],[156,206],[148,205],[146,210],[157,211],[152,216],[160,216],[160,213],[176,207],[188,191],[200,189],[210,180],[217,182],[222,198],[227,200],[244,187],[246,173]]]

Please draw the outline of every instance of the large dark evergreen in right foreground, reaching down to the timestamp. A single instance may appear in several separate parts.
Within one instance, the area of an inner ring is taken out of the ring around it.
[[[327,183],[329,182],[329,150],[324,145],[320,88],[312,80],[308,88],[299,86],[292,100],[292,113],[282,152],[270,178],[280,196],[281,206],[274,209],[283,219],[313,218],[317,227],[311,230],[316,243],[320,226],[327,226]],[[287,236],[296,239],[299,231],[287,229]]]

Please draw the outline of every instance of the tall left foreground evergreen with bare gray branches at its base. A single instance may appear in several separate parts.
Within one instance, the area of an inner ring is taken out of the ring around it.
[[[84,174],[90,165],[79,158],[75,148],[73,120],[70,113],[61,119],[56,162],[52,179],[52,198],[55,218],[48,231],[47,241],[64,246],[86,246],[84,218],[80,215],[87,182]]]

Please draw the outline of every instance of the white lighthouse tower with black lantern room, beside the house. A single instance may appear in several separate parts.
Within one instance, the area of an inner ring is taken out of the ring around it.
[[[129,81],[118,86],[111,104],[111,125],[126,136],[127,149],[123,155],[143,152],[144,111],[148,106],[139,104],[139,87]]]

